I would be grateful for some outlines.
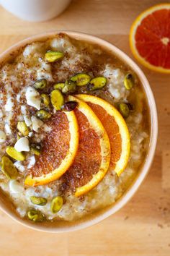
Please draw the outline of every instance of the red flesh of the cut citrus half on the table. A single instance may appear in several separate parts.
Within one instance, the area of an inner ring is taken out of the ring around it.
[[[153,66],[170,69],[170,9],[156,10],[141,21],[135,47]]]

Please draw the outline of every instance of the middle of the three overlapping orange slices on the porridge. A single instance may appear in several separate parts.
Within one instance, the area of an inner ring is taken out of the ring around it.
[[[79,124],[79,149],[73,165],[61,178],[61,188],[71,187],[79,197],[97,186],[107,173],[110,144],[107,132],[91,108],[73,96],[68,100],[79,103],[74,110]]]

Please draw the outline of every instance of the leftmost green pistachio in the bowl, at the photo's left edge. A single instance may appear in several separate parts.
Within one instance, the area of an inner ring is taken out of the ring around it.
[[[17,168],[7,156],[1,158],[1,171],[9,179],[16,179],[18,176]]]

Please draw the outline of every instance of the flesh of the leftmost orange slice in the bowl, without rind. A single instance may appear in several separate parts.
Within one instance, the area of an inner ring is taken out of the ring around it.
[[[60,166],[69,150],[70,132],[66,114],[58,111],[46,124],[52,131],[42,141],[42,151],[29,171],[32,176],[42,176],[53,171]]]

